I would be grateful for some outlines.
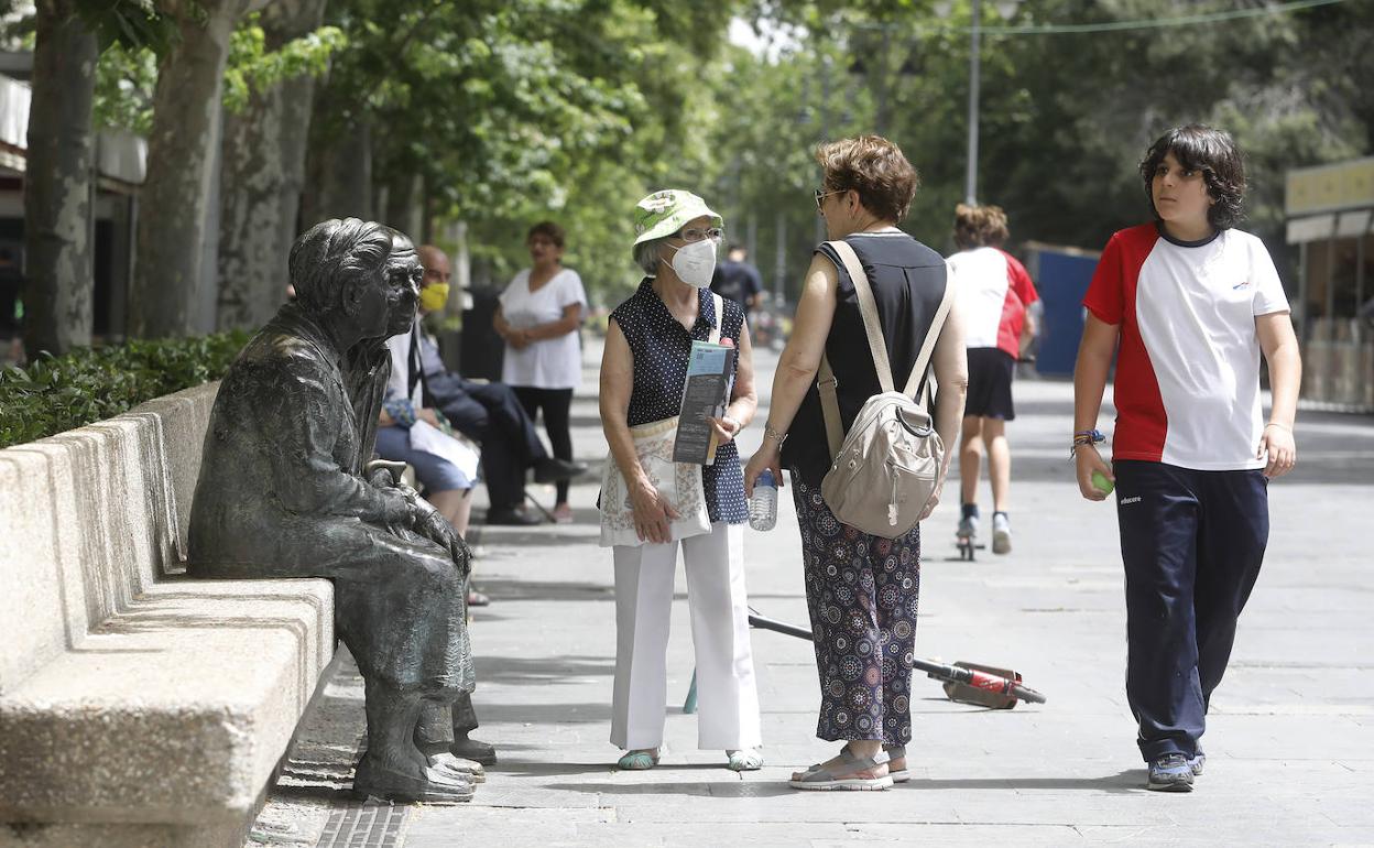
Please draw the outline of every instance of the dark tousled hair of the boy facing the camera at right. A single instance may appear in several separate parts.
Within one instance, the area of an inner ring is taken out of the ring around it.
[[[1235,146],[1231,133],[1221,129],[1189,124],[1175,126],[1150,146],[1140,162],[1140,179],[1145,180],[1145,197],[1150,202],[1150,213],[1160,219],[1154,208],[1151,183],[1154,172],[1164,157],[1173,154],[1179,165],[1189,170],[1201,170],[1206,180],[1206,192],[1216,201],[1208,209],[1206,219],[1217,230],[1235,227],[1245,217],[1245,162],[1241,148]]]

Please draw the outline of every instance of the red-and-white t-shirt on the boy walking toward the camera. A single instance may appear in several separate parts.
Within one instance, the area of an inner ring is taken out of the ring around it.
[[[1287,312],[1274,260],[1249,232],[1178,242],[1154,224],[1112,236],[1083,298],[1121,327],[1113,459],[1202,471],[1261,469],[1254,317]]]

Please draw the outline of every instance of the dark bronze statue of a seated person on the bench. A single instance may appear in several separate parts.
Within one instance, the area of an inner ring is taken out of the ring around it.
[[[469,550],[386,473],[365,471],[382,341],[415,317],[409,239],[357,219],[291,247],[295,301],[247,344],[220,386],[191,507],[188,573],[327,577],[335,629],[365,682],[367,752],[353,789],[463,801],[480,767],[415,745],[422,709],[471,693]]]

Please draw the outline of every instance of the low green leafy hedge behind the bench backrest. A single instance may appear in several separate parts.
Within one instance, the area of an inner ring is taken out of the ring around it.
[[[249,341],[245,331],[136,339],[40,355],[0,371],[0,448],[126,412],[146,400],[218,379]]]

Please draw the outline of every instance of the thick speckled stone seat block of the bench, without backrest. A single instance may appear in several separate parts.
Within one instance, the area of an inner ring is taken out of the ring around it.
[[[334,649],[327,580],[153,587],[0,697],[0,819],[250,816]]]

